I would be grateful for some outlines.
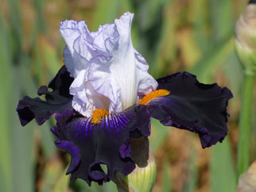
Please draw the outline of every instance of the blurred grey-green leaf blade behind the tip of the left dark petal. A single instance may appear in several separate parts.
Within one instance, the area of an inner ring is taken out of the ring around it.
[[[34,124],[29,124],[25,127],[21,126],[19,118],[15,109],[17,108],[17,102],[21,99],[21,79],[20,66],[13,68],[13,86],[12,86],[12,102],[10,104],[11,121],[11,154],[12,154],[12,175],[13,175],[13,185],[14,191],[33,191],[34,183],[33,179],[35,177],[34,172],[34,147],[33,147],[33,127]]]

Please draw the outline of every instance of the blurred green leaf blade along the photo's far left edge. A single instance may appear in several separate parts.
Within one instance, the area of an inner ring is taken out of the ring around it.
[[[10,56],[10,36],[6,23],[0,14],[0,191],[11,191],[11,143],[10,143],[10,102],[11,102],[11,56]],[[14,113],[12,111],[12,113]]]

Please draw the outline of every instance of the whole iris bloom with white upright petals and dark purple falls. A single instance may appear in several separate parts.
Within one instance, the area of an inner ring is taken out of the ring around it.
[[[103,184],[118,172],[134,171],[130,140],[150,135],[151,117],[198,133],[203,148],[227,135],[231,91],[199,83],[188,72],[153,79],[132,44],[133,17],[124,13],[96,32],[89,32],[84,21],[62,21],[64,66],[39,88],[45,101],[25,96],[18,103],[23,126],[33,118],[41,125],[56,114],[51,130],[56,146],[71,156],[67,174],[72,181]]]

